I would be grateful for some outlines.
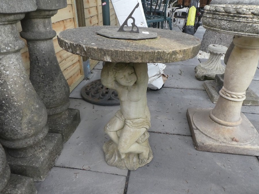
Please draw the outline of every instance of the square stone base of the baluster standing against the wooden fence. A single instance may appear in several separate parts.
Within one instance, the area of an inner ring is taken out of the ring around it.
[[[49,132],[60,133],[65,143],[80,123],[79,110],[68,108],[62,114],[48,116]]]

